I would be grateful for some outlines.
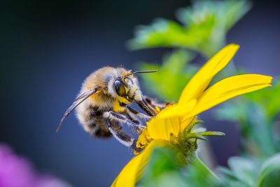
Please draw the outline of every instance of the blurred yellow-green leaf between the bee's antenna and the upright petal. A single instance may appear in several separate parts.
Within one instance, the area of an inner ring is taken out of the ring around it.
[[[188,64],[193,57],[186,50],[174,50],[163,57],[162,65],[142,62],[141,69],[160,70],[142,76],[145,87],[159,99],[176,102],[184,86],[198,69],[195,65]]]

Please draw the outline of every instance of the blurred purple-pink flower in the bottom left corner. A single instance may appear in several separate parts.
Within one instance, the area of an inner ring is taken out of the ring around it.
[[[68,183],[45,174],[36,174],[31,163],[6,145],[0,144],[0,187],[70,187]]]

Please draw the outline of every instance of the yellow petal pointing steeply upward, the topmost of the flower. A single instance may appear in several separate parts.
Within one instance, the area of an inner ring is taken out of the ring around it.
[[[179,104],[186,104],[191,99],[200,97],[202,92],[207,88],[212,78],[223,69],[228,62],[235,55],[239,46],[236,44],[230,44],[221,49],[214,57],[204,64],[204,66],[197,71],[195,76],[190,79],[186,87],[181,93]]]

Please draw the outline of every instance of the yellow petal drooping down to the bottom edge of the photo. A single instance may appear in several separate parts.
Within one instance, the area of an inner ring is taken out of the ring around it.
[[[112,187],[132,187],[141,179],[144,167],[148,163],[154,148],[167,146],[167,141],[154,140],[143,151],[143,153],[135,156],[125,165],[120,174],[118,174]]]

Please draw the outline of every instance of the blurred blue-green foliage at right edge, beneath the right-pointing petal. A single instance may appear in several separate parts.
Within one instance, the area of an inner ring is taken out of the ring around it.
[[[276,79],[272,87],[234,99],[216,110],[218,119],[239,124],[244,153],[267,157],[280,151],[279,95],[280,80]]]

